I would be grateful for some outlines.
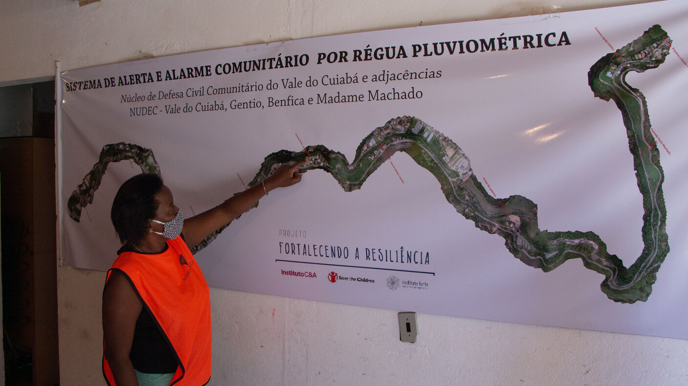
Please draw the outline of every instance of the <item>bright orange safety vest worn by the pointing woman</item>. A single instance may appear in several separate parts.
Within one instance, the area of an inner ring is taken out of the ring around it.
[[[108,278],[113,269],[129,278],[142,306],[151,311],[174,348],[178,367],[171,385],[208,383],[212,362],[210,291],[182,237],[167,240],[166,251],[157,255],[123,252],[107,271]],[[115,386],[105,354],[103,374],[108,385]]]

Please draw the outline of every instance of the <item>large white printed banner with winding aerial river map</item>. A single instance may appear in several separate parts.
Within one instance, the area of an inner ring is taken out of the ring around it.
[[[688,339],[687,22],[667,1],[65,71],[63,260],[109,269],[134,174],[188,218],[305,160],[195,249],[211,286]]]

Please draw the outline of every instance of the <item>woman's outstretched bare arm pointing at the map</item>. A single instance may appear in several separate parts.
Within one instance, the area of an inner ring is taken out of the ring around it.
[[[301,161],[291,166],[283,165],[275,170],[275,172],[264,181],[265,190],[263,189],[262,183],[255,185],[253,188],[235,194],[213,209],[208,209],[206,212],[184,220],[183,232],[186,245],[189,245],[189,248],[195,247],[199,242],[208,237],[208,235],[219,229],[219,227],[230,223],[248,209],[252,208],[258,200],[265,195],[265,192],[299,183],[299,181],[301,181],[299,167],[304,163],[305,161]]]

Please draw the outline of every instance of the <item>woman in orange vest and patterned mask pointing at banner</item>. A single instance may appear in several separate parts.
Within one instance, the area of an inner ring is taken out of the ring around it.
[[[103,374],[109,385],[208,383],[210,297],[189,247],[270,190],[301,181],[302,165],[282,166],[260,185],[186,220],[157,175],[139,174],[122,184],[111,219],[123,245],[103,291]]]

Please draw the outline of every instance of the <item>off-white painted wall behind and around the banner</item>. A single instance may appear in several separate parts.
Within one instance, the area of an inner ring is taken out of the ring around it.
[[[561,10],[641,1],[559,0]],[[63,69],[394,27],[523,16],[552,0],[0,2],[0,86]],[[114,235],[103,235],[114,237]],[[105,273],[58,269],[61,385],[105,385]],[[688,341],[211,289],[211,385],[688,385]],[[676,305],[676,306],[686,306]]]

